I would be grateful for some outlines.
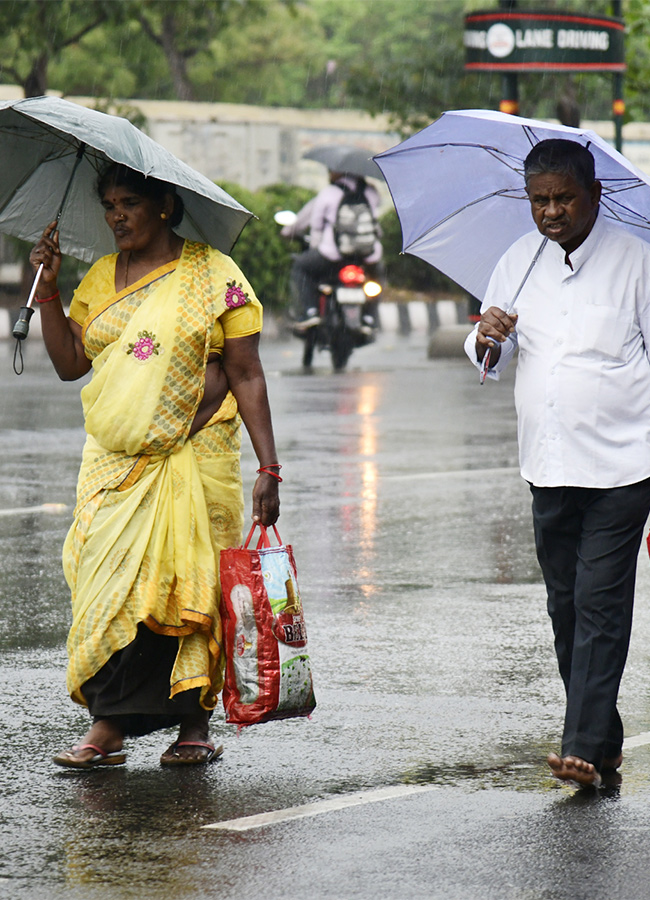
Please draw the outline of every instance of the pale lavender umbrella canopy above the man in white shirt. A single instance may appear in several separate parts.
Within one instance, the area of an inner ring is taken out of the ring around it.
[[[547,138],[588,146],[601,215],[650,241],[650,181],[593,131],[492,110],[456,110],[375,157],[402,226],[403,250],[483,298],[508,247],[533,231],[524,159]]]

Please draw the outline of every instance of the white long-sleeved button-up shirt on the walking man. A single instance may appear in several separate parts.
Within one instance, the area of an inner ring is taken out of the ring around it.
[[[538,231],[502,256],[481,306],[508,309]],[[522,476],[538,487],[611,488],[650,477],[650,244],[605,219],[570,254],[548,241],[512,312],[515,333],[488,377],[519,357]],[[479,367],[477,327],[465,351]]]

